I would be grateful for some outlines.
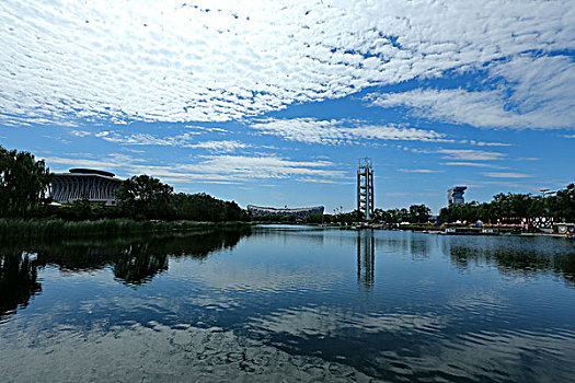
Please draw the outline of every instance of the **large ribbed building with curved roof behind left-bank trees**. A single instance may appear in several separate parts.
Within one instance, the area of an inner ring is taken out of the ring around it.
[[[60,204],[88,199],[105,206],[116,205],[116,190],[122,179],[114,173],[95,169],[70,169],[69,173],[56,173],[50,185],[50,197]]]

